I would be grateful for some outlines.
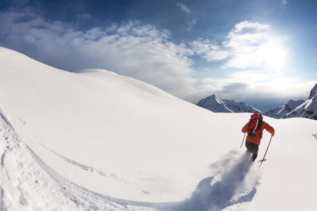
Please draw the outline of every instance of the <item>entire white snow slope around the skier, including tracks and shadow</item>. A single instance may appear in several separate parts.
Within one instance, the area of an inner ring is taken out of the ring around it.
[[[314,210],[317,122],[213,113],[106,70],[0,48],[0,210]]]

